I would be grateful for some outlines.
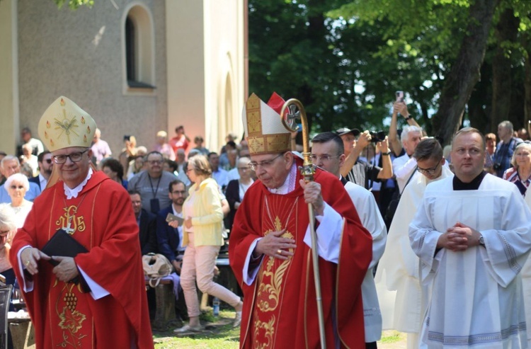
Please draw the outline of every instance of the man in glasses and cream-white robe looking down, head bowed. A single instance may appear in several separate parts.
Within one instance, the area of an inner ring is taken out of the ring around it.
[[[453,176],[442,157],[442,147],[434,138],[418,143],[413,158],[423,176],[415,176],[404,188],[389,227],[389,247],[379,261],[375,276],[383,328],[408,333],[407,347],[411,349],[418,348],[427,292],[421,291],[418,256],[409,244],[409,224],[421,204],[426,185]]]

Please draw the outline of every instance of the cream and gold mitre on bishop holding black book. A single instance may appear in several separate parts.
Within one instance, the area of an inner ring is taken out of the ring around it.
[[[96,122],[79,105],[64,96],[52,103],[39,121],[39,137],[50,151],[90,147]]]

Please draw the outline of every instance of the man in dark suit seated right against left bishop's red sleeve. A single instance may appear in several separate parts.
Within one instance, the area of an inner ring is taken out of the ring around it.
[[[142,208],[142,197],[137,190],[129,190],[133,211],[139,228],[140,249],[142,255],[153,252],[158,253],[156,244],[156,217]]]

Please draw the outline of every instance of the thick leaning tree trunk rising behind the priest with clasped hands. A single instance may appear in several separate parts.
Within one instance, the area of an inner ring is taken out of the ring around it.
[[[433,130],[444,144],[449,144],[452,135],[461,124],[464,106],[479,79],[479,69],[485,57],[486,40],[489,37],[492,16],[498,0],[476,0],[469,8],[469,25],[459,55],[445,77],[439,110],[433,116]]]

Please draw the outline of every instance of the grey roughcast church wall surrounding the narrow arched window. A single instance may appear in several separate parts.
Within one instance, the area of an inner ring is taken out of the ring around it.
[[[154,32],[154,90],[124,92],[122,25],[125,11],[139,4],[151,13]],[[115,6],[116,5],[116,6]],[[93,8],[58,10],[52,1],[18,1],[20,127],[37,136],[38,120],[64,95],[86,110],[102,130],[113,155],[123,135],[151,149],[166,130],[166,18],[164,1],[95,1]]]

